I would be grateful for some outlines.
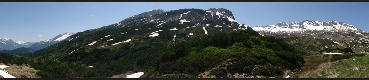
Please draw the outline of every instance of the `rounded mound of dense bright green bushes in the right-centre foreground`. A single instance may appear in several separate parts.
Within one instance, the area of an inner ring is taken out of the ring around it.
[[[258,72],[267,72],[268,76],[280,76],[283,70],[290,69],[300,69],[303,66],[303,57],[294,49],[293,46],[277,39],[274,37],[263,37],[260,35],[251,35],[250,31],[238,31],[232,32],[230,34],[242,34],[246,36],[239,37],[238,35],[229,35],[227,33],[220,33],[208,35],[201,39],[194,39],[193,41],[186,42],[180,46],[189,46],[195,48],[186,48],[180,50],[185,55],[183,56],[173,56],[174,54],[162,55],[162,59],[165,56],[176,57],[169,61],[161,64],[159,67],[159,73],[169,74],[169,73],[186,73],[190,75],[197,75],[208,69],[213,68],[224,62],[226,59],[231,59],[232,64],[226,66],[226,69],[216,68],[210,70],[212,75],[217,77],[225,77],[227,75],[227,70],[230,73],[246,73],[250,74],[252,69],[255,68],[254,65],[263,65],[267,61],[272,65],[281,68],[265,68]],[[226,41],[219,40],[218,37],[230,37]],[[218,39],[213,42],[213,39]],[[229,40],[230,39],[230,40]],[[210,43],[209,43],[210,42]],[[218,43],[232,43],[233,45],[215,45]],[[176,45],[179,46],[179,45]],[[206,48],[203,48],[206,47]],[[172,49],[176,49],[173,46]]]

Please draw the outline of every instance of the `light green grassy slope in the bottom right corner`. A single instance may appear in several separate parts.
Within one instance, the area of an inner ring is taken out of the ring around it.
[[[368,78],[369,55],[352,57],[345,60],[323,63],[319,69],[308,72],[300,77],[305,78]],[[355,59],[355,60],[354,60]],[[353,70],[358,67],[359,70]]]

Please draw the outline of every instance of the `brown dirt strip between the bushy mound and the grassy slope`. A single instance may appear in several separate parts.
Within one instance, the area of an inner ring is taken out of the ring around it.
[[[319,69],[319,65],[330,62],[330,58],[332,58],[331,55],[304,55],[303,57],[306,63],[302,67],[301,71],[293,73],[294,77],[301,78],[306,75],[306,73]]]

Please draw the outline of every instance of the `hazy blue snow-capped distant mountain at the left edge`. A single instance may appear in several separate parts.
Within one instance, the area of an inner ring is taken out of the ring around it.
[[[26,45],[22,45],[14,42],[10,38],[0,38],[0,50],[13,50],[18,47],[25,47]]]

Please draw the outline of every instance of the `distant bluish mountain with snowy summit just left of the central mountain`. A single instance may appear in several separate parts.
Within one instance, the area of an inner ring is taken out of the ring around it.
[[[54,45],[55,43],[58,43],[60,41],[63,41],[64,39],[68,38],[69,36],[71,36],[73,34],[75,34],[75,33],[60,34],[60,35],[58,35],[58,36],[56,36],[52,39],[36,42],[28,48],[31,48],[31,49],[34,49],[34,50],[40,50],[40,49],[43,49],[43,48],[48,47],[50,45]]]

